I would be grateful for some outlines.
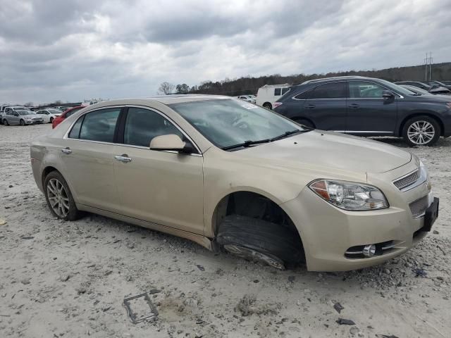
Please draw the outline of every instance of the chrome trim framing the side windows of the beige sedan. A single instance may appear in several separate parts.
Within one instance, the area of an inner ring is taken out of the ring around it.
[[[200,151],[199,146],[197,146],[197,144],[192,140],[191,137],[189,137],[187,135],[187,133],[185,131],[183,131],[178,125],[177,123],[175,123],[171,118],[169,118],[167,115],[165,115],[164,113],[161,113],[160,111],[157,111],[155,108],[151,108],[148,106],[139,106],[139,105],[130,105],[130,104],[125,104],[125,105],[116,105],[116,106],[105,106],[105,107],[100,107],[97,109],[92,109],[92,111],[86,111],[85,113],[80,114],[80,116],[78,116],[75,121],[70,125],[70,127],[68,127],[68,130],[66,130],[66,133],[63,136],[63,139],[71,139],[73,141],[80,141],[80,142],[92,142],[92,143],[97,143],[97,144],[110,144],[110,145],[115,145],[115,146],[128,146],[128,147],[132,147],[132,148],[140,148],[140,149],[147,149],[149,151],[159,151],[159,150],[152,150],[149,147],[146,146],[134,146],[132,144],[123,144],[123,143],[113,143],[113,142],[102,142],[102,141],[94,141],[92,139],[73,139],[72,137],[69,137],[69,133],[70,130],[72,130],[73,125],[75,125],[75,123],[77,123],[77,121],[82,118],[83,115],[86,115],[88,113],[93,113],[94,111],[101,111],[104,109],[110,109],[110,108],[142,108],[142,109],[147,109],[149,111],[153,111],[154,113],[158,113],[159,115],[163,116],[163,118],[166,118],[169,122],[171,122],[178,130],[180,130],[180,132],[185,135],[185,137],[187,137],[187,139],[190,140],[190,142],[194,145],[194,148],[196,148],[197,151],[199,151],[199,154],[186,154],[186,155],[190,155],[190,156],[200,156],[203,157],[202,151]],[[77,113],[77,112],[75,112]],[[116,120],[116,124],[117,124],[117,120]],[[165,152],[165,153],[175,153],[175,154],[180,154],[178,151],[168,151],[168,150],[164,150],[164,151],[160,151],[160,152]]]

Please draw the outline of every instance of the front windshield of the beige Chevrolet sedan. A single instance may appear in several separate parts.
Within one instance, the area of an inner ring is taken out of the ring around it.
[[[300,125],[264,108],[237,99],[215,99],[168,105],[219,148],[268,140]]]

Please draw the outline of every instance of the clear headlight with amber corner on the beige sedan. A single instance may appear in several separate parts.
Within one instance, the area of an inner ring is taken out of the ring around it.
[[[376,187],[356,182],[316,180],[309,188],[338,208],[351,211],[388,208],[388,201]]]

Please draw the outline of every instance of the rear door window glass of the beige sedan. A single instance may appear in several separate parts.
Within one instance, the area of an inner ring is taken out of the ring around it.
[[[121,108],[102,109],[87,113],[77,120],[70,130],[69,137],[112,143],[119,113],[121,113]]]

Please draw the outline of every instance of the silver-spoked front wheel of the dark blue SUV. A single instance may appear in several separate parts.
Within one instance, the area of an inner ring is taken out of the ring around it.
[[[409,146],[432,146],[440,137],[440,125],[428,116],[416,116],[405,123],[402,137]]]

